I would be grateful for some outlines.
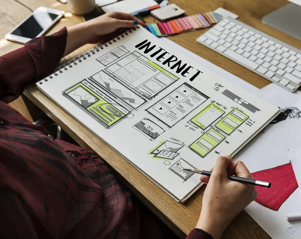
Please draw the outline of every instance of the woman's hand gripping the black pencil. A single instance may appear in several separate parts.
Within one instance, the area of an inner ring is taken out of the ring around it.
[[[234,217],[257,197],[255,186],[230,181],[227,175],[253,179],[246,166],[241,161],[232,162],[231,157],[218,157],[211,176],[201,177],[207,187],[196,228],[214,239],[220,238]]]

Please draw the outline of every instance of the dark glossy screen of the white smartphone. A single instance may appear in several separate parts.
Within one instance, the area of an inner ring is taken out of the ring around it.
[[[53,13],[37,10],[11,34],[30,39],[35,38],[44,29],[49,28],[58,16]]]

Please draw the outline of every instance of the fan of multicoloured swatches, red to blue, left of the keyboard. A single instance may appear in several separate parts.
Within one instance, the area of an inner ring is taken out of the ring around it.
[[[178,33],[193,31],[202,28],[212,27],[222,20],[222,16],[215,12],[208,12],[178,18],[166,23],[153,23],[146,26],[146,29],[157,37],[165,37]]]

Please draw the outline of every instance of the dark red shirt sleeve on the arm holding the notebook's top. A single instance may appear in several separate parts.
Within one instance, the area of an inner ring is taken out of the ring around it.
[[[30,82],[38,81],[54,71],[63,57],[67,29],[24,44],[24,47],[0,57],[0,100],[18,98]]]

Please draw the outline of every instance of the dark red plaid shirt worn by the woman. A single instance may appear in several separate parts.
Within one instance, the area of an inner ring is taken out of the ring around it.
[[[166,238],[94,152],[55,140],[6,103],[50,74],[67,30],[0,57],[0,238]],[[194,229],[188,238],[212,238]]]

